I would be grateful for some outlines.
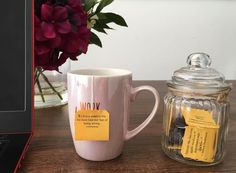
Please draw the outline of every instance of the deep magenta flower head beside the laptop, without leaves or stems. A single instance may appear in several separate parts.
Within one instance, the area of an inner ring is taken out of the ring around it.
[[[35,66],[57,70],[86,53],[91,36],[81,0],[36,1]]]

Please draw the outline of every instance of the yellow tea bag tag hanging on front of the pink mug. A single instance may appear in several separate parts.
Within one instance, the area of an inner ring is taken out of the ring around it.
[[[75,140],[109,141],[109,113],[80,110],[75,113]]]

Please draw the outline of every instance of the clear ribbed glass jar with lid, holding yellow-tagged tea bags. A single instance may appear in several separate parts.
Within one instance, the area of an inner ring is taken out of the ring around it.
[[[209,67],[211,59],[205,53],[191,54],[187,63],[167,82],[162,148],[183,163],[215,165],[225,155],[232,85]]]

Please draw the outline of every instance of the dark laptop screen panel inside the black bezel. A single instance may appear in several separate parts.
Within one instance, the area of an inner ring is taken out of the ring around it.
[[[1,1],[0,111],[25,110],[25,10],[25,1]]]

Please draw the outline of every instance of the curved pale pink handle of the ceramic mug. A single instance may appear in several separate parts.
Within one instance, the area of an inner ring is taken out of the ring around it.
[[[158,91],[151,87],[151,86],[140,86],[137,88],[131,88],[131,101],[135,100],[135,96],[141,92],[141,91],[150,91],[151,93],[153,93],[154,97],[155,97],[155,105],[153,107],[152,112],[150,113],[150,115],[146,118],[146,120],[140,124],[137,128],[135,128],[134,130],[129,131],[127,129],[126,135],[125,135],[125,140],[129,140],[131,138],[133,138],[134,136],[136,136],[139,132],[141,132],[149,123],[150,121],[154,118],[156,112],[157,112],[157,108],[159,106],[160,103],[160,95],[158,93]],[[127,119],[128,121],[128,119]],[[128,124],[128,123],[127,123]],[[128,128],[128,125],[127,125]]]

